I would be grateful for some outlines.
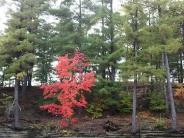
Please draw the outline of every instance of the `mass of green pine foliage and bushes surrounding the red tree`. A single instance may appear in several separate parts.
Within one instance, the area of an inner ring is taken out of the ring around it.
[[[132,112],[133,88],[141,93],[142,85],[150,92],[148,109],[163,111],[166,78],[183,83],[184,1],[126,0],[120,11],[113,0],[13,2],[17,9],[0,36],[2,86],[11,77],[23,81],[25,76],[51,83],[56,58],[78,49],[97,76],[88,95],[87,112],[93,118],[107,111]]]

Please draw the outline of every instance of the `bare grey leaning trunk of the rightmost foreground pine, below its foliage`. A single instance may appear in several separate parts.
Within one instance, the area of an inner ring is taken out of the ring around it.
[[[172,130],[175,131],[176,130],[176,110],[175,110],[172,86],[170,82],[170,68],[169,68],[167,53],[164,53],[164,58],[165,58],[165,69],[166,69],[167,84],[168,84],[168,94],[169,94],[170,107],[171,107],[171,125],[172,125]]]

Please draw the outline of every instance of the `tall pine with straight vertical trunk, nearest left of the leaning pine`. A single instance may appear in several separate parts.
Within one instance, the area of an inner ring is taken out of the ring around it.
[[[139,40],[139,31],[142,29],[142,26],[145,25],[143,7],[139,4],[140,1],[129,1],[124,4],[125,10],[125,22],[124,22],[124,30],[126,33],[126,42],[125,46],[127,46],[127,53],[125,55],[126,61],[122,65],[122,71],[125,69],[128,78],[133,78],[133,103],[132,103],[132,133],[136,133],[137,131],[137,123],[136,123],[136,112],[137,112],[137,83],[139,73],[142,72],[141,63],[138,58],[141,52],[141,43]],[[144,67],[144,66],[143,66]],[[144,73],[144,72],[143,72]],[[125,74],[123,74],[125,77]]]

